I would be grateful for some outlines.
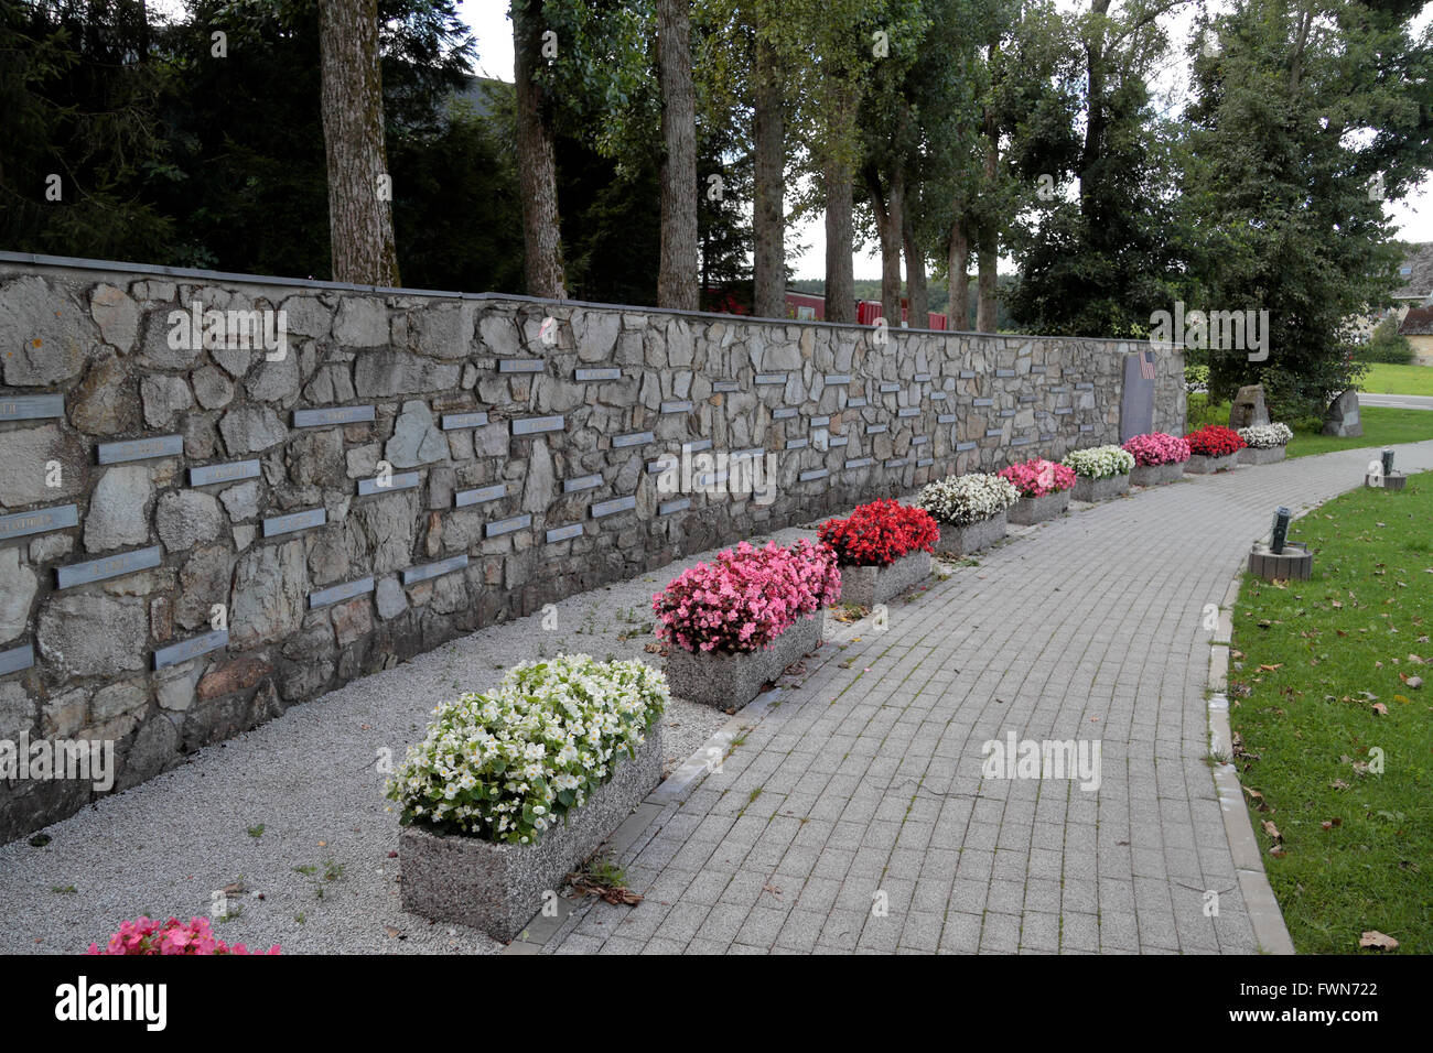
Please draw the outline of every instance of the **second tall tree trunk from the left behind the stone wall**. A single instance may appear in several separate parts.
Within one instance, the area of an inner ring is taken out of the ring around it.
[[[536,10],[533,10],[536,9]],[[546,113],[540,0],[513,0],[513,80],[517,100],[517,185],[523,198],[523,275],[527,294],[566,299],[557,219],[557,162]]]

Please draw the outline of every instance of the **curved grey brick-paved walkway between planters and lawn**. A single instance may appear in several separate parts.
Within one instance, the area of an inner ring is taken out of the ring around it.
[[[1205,764],[1202,612],[1274,506],[1357,486],[1370,456],[1187,476],[896,600],[887,632],[821,648],[719,772],[651,808],[622,858],[645,900],[580,907],[546,950],[1257,950]],[[1433,443],[1399,466],[1433,467]],[[1102,784],[982,778],[1007,732],[1101,739]]]

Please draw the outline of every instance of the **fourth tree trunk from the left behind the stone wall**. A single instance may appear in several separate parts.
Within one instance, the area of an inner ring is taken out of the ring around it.
[[[755,139],[755,203],[752,208],[752,312],[758,318],[785,318],[785,115],[781,70],[775,47],[757,36],[757,99],[752,115]]]

